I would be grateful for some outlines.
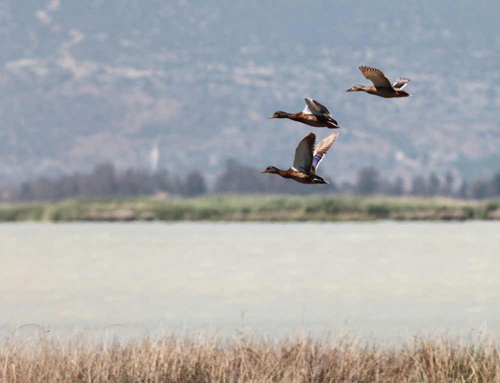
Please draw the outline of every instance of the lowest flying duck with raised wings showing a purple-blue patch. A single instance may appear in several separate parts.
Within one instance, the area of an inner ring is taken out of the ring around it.
[[[274,166],[269,166],[260,173],[279,174],[281,177],[291,178],[302,184],[327,184],[328,182],[316,175],[316,168],[337,136],[338,133],[335,132],[314,146],[316,135],[309,133],[298,143],[291,168],[279,170]]]

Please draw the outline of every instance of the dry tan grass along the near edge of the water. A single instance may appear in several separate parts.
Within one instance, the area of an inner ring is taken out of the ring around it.
[[[79,335],[7,338],[1,382],[498,382],[498,343],[415,337],[396,346],[348,336]]]

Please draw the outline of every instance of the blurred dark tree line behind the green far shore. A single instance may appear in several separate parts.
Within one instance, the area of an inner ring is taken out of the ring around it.
[[[415,176],[409,187],[402,178],[393,181],[382,179],[374,167],[362,168],[353,183],[336,185],[325,176],[329,185],[310,187],[278,176],[262,175],[259,170],[229,159],[223,172],[215,179],[212,193],[232,194],[318,194],[340,193],[353,195],[414,195],[447,196],[453,198],[482,199],[500,196],[500,171],[489,180],[476,179],[467,184],[454,185],[453,176]],[[127,169],[116,172],[111,163],[97,165],[89,173],[73,173],[58,178],[40,177],[22,182],[18,186],[0,186],[0,200],[55,201],[70,197],[135,197],[166,193],[182,197],[196,197],[208,193],[203,175],[198,171],[184,178],[170,177],[167,171],[155,173]]]

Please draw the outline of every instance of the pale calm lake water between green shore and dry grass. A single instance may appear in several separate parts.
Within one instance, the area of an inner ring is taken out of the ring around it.
[[[0,328],[497,331],[500,222],[4,223]],[[473,329],[473,330],[472,330]]]

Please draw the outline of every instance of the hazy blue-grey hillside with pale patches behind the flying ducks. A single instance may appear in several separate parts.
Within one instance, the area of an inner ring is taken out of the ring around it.
[[[341,127],[319,172],[337,188],[369,168],[408,190],[493,182],[499,17],[492,0],[5,0],[0,184],[111,164],[216,188],[235,163],[287,169],[311,129],[266,118],[304,97]],[[413,97],[345,93],[370,85],[360,65],[409,78]]]

